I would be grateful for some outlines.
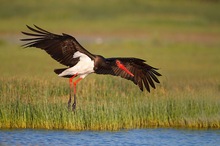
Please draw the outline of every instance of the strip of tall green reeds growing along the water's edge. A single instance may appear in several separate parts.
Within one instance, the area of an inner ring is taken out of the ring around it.
[[[0,79],[0,128],[220,128],[216,93],[170,92],[159,86],[148,94],[123,82],[90,78],[79,85],[77,109],[72,112],[67,109],[69,88],[65,81]]]

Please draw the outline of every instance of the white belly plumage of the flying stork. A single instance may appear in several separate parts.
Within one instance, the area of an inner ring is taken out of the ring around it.
[[[75,75],[78,74],[80,78],[86,77],[88,74],[94,72],[94,61],[91,60],[87,55],[80,53],[77,51],[74,53],[73,58],[79,57],[79,62],[71,67],[63,71],[59,76],[66,76],[66,75]]]

